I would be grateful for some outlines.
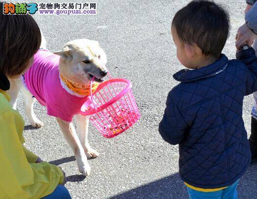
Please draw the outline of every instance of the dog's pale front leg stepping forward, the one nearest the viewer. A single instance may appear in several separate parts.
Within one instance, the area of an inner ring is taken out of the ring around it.
[[[90,166],[87,162],[87,157],[85,155],[84,149],[81,146],[80,141],[77,137],[74,125],[72,123],[63,121],[60,118],[56,118],[56,120],[61,127],[62,133],[66,141],[74,151],[79,172],[85,176],[89,175]]]

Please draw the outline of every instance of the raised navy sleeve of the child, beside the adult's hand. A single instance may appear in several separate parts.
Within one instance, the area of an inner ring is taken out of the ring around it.
[[[249,48],[236,53],[236,58],[242,61],[247,67],[246,75],[246,94],[250,95],[257,91],[257,57],[255,50]]]

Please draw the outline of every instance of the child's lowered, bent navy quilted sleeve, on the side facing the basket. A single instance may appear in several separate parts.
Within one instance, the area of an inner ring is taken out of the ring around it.
[[[168,95],[164,116],[159,124],[159,133],[163,140],[171,145],[177,145],[183,140],[187,125],[170,95]]]

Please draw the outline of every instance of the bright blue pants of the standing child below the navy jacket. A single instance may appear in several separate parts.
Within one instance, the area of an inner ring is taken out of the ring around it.
[[[239,180],[226,189],[214,192],[201,192],[187,187],[189,199],[237,199],[236,187]]]

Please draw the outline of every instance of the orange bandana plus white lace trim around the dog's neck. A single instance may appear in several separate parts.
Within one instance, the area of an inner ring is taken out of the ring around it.
[[[60,74],[60,81],[62,87],[71,95],[77,96],[79,98],[85,98],[90,95],[90,84],[80,84],[74,82],[63,75]],[[95,92],[99,83],[93,83],[92,85],[92,93]]]

